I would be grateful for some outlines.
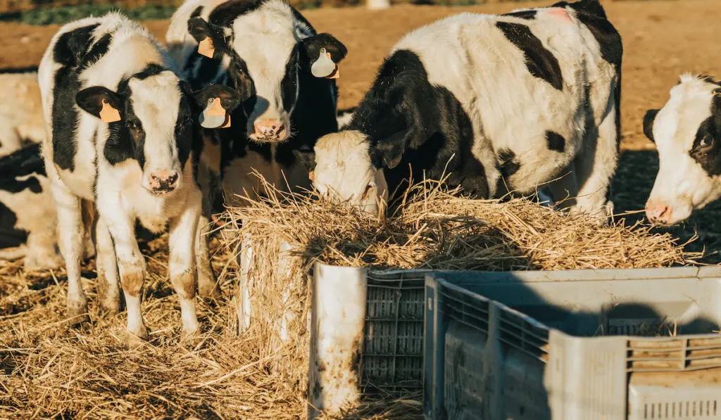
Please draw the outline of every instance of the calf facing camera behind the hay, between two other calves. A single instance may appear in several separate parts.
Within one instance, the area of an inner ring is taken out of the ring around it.
[[[281,189],[309,188],[313,146],[337,130],[334,78],[345,46],[280,0],[185,1],[166,40],[195,86],[251,92],[231,128],[206,142],[226,198],[262,192],[254,169]]]

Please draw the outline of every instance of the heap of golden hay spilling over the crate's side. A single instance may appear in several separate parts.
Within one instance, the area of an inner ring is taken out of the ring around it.
[[[250,334],[298,393],[306,389],[309,362],[311,287],[305,273],[314,262],[509,271],[669,267],[687,257],[672,236],[647,226],[621,220],[599,227],[586,215],[528,200],[468,200],[439,182],[415,185],[392,203],[395,210],[378,218],[261,182],[267,197],[246,199],[226,213],[231,220],[226,245],[240,249],[243,238],[252,243],[245,259],[256,321]],[[280,251],[284,243],[291,244],[290,251]],[[279,272],[284,260],[288,269]],[[281,323],[284,337],[278,332]]]

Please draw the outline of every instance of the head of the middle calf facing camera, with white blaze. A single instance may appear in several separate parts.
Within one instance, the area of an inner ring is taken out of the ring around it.
[[[299,72],[335,78],[346,48],[329,34],[314,35],[282,1],[226,1],[209,22],[188,21],[198,52],[229,60],[230,83],[251,96],[244,104],[247,133],[257,142],[279,142],[292,134]]]

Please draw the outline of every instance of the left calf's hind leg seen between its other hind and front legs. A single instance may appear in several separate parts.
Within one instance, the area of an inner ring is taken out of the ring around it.
[[[107,313],[120,310],[120,287],[118,287],[118,262],[110,231],[102,218],[95,216],[93,239],[97,249],[97,291],[100,305]]]

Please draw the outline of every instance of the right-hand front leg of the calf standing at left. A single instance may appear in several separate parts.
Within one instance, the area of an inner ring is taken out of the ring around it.
[[[191,203],[177,218],[170,220],[170,282],[180,299],[183,336],[198,332],[198,316],[195,313],[195,287],[198,268],[195,264],[195,238],[198,236],[200,197],[197,205]]]

